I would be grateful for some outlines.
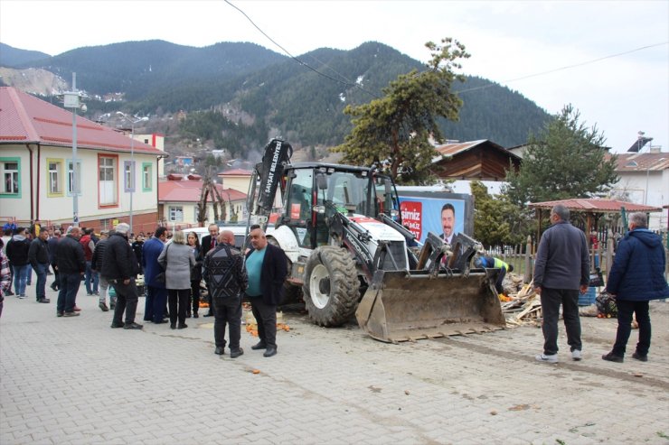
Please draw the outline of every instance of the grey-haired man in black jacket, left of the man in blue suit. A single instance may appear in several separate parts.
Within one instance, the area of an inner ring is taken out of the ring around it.
[[[102,274],[116,291],[116,308],[112,328],[142,329],[143,326],[135,322],[139,293],[135,284],[135,277],[139,272],[137,257],[127,241],[127,232],[130,226],[120,223],[114,227],[115,233],[109,236],[102,259]],[[123,323],[123,312],[126,312],[126,322]]]

